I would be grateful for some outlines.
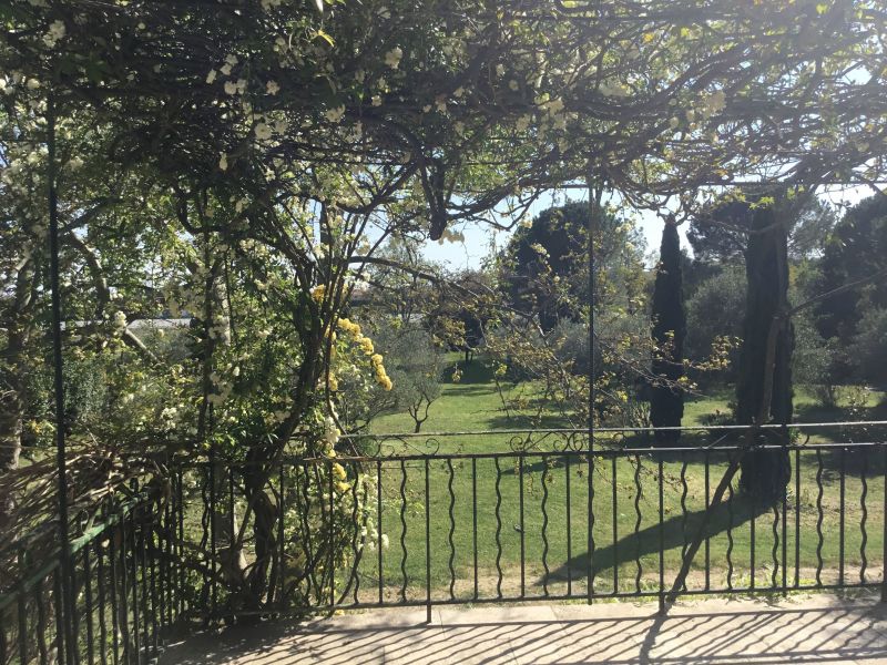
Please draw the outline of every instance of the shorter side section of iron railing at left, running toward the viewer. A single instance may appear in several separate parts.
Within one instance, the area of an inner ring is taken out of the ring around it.
[[[45,538],[4,549],[12,567],[0,576],[0,663],[129,665],[156,658],[164,631],[185,611],[179,480],[132,484],[125,495],[105,501],[67,556],[58,543],[45,549]]]

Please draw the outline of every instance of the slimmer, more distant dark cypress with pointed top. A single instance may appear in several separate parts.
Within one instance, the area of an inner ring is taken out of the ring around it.
[[[660,262],[653,289],[653,380],[650,391],[650,419],[653,427],[680,427],[684,416],[684,396],[676,381],[684,376],[683,354],[686,337],[681,238],[677,226],[666,223],[662,229]],[[680,431],[656,431],[661,446],[675,443]]]

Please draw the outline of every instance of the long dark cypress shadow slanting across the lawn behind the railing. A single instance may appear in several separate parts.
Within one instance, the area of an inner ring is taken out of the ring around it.
[[[754,510],[753,510],[754,508]],[[769,508],[764,505],[752,507],[751,502],[742,497],[734,497],[711,511],[711,516],[705,526],[705,538],[732,532],[752,520],[768,514]],[[659,555],[660,550],[669,551],[689,545],[702,524],[704,510],[689,512],[686,523],[681,515],[669,518],[662,524],[654,524],[620,538],[615,543],[610,542],[603,546],[595,546],[591,564],[592,573],[598,576],[605,571],[612,571],[613,565],[638,563],[640,559]],[[763,525],[761,526],[763,529]],[[598,539],[600,545],[600,539]],[[700,549],[696,561],[702,561],[704,550]],[[734,564],[736,560],[734,559]],[[721,565],[723,562],[717,562]],[[765,563],[765,562],[762,562]],[[584,552],[573,556],[568,563],[551,571],[549,582],[562,581],[568,577],[568,567],[573,580],[584,577],[589,571],[589,553]]]

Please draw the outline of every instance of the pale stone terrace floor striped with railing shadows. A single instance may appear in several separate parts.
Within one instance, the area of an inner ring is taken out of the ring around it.
[[[435,607],[340,614],[204,633],[162,665],[887,664],[887,605],[870,595],[655,604]]]

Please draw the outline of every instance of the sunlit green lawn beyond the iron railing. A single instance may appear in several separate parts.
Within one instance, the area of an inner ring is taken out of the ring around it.
[[[446,383],[431,406],[424,426],[428,432],[517,429],[530,426],[527,413],[502,410],[500,396],[480,362],[463,369],[462,380]],[[511,386],[509,392],[524,389]],[[863,418],[876,418],[883,396],[871,393]],[[696,399],[687,403],[685,424],[696,424],[715,410],[727,410],[728,396]],[[796,407],[804,421],[840,420],[847,413],[815,408],[803,391]],[[859,419],[857,412],[855,418]],[[559,427],[555,418],[547,427]],[[408,432],[406,413],[390,413],[374,424],[375,432]],[[873,431],[818,431],[810,442],[859,441],[878,436]],[[883,432],[881,432],[883,434]],[[699,440],[685,441],[697,444]],[[803,440],[799,442],[804,442]],[[508,452],[518,443],[512,434],[432,437],[408,439],[392,449],[405,453]],[[680,565],[683,548],[702,522],[706,504],[703,453],[684,459],[675,456],[628,456],[597,459],[589,482],[583,454],[561,454],[567,443],[549,438],[537,442],[544,457],[517,456],[450,460],[429,463],[431,581],[435,597],[470,598],[477,576],[481,597],[508,595],[582,594],[589,562],[589,492],[592,492],[594,555],[591,562],[595,593],[659,587],[660,541],[664,549],[665,584]],[[582,444],[582,441],[574,442]],[[600,442],[606,448],[606,440]],[[884,550],[884,462],[880,449],[869,453],[798,451],[793,457],[793,477],[785,505],[755,505],[741,497],[734,481],[734,498],[715,511],[706,529],[707,545],[694,560],[692,587],[706,584],[706,552],[712,587],[769,586],[782,583],[783,559],[789,584],[832,584],[880,579]],[[842,460],[842,454],[844,459]],[[708,495],[726,468],[723,452],[708,454]],[[660,529],[659,464],[662,463],[662,513]],[[497,468],[498,464],[498,468]],[[799,471],[799,475],[798,475]],[[822,481],[822,494],[817,484]],[[569,490],[568,490],[569,484]],[[498,489],[498,492],[497,492]],[[799,491],[798,491],[799,489]],[[569,491],[569,501],[568,501]],[[521,498],[522,497],[522,498]],[[361,601],[425,597],[426,497],[425,461],[386,461],[381,466],[381,532],[389,545],[363,553]],[[522,510],[521,510],[522,505]],[[450,516],[452,515],[452,516]],[[785,528],[785,533],[783,529]],[[754,549],[752,548],[754,542]],[[842,556],[843,552],[843,556]],[[522,553],[522,555],[521,555]],[[863,561],[866,560],[864,570]],[[477,557],[477,565],[475,560]],[[523,561],[523,565],[521,565]],[[843,561],[843,563],[842,563]],[[820,564],[822,562],[822,564]],[[731,573],[731,567],[732,573]],[[548,572],[547,572],[548,569]],[[477,573],[476,573],[477,570]],[[502,571],[501,582],[499,570]]]

